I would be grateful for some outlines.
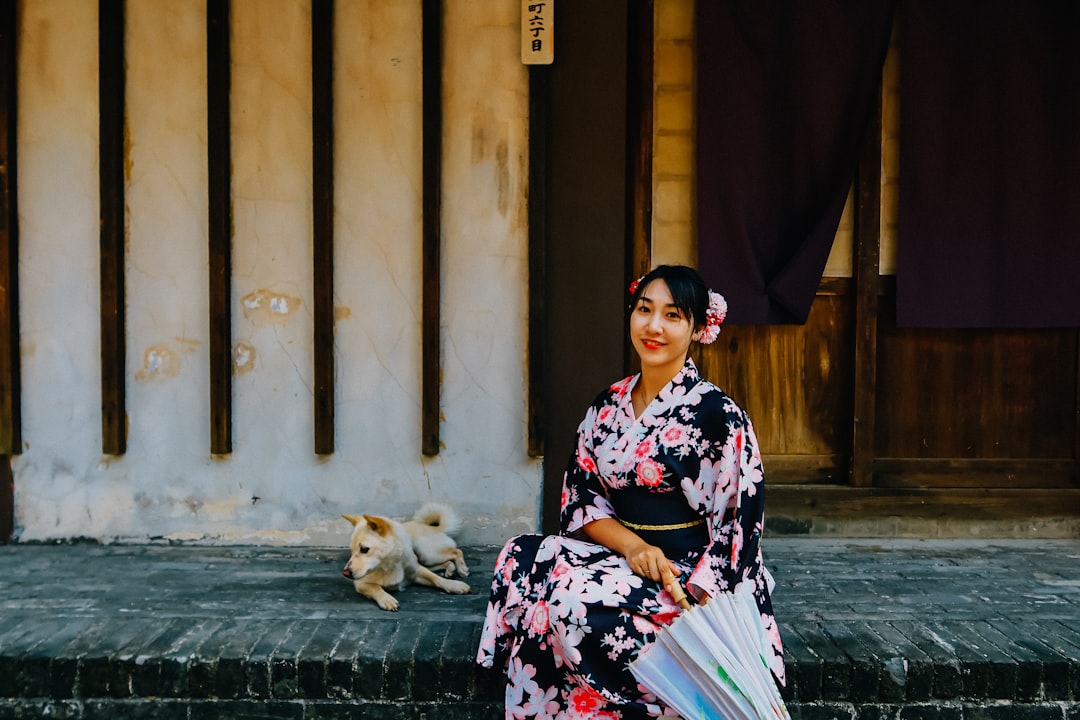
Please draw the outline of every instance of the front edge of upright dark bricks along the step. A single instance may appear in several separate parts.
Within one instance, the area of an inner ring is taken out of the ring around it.
[[[285,717],[308,718],[322,717],[312,708],[335,704],[402,704],[420,712],[497,707],[502,697],[501,676],[472,662],[476,622],[119,619],[28,626],[8,617],[0,627],[0,708],[17,706],[17,698],[130,706],[167,698],[192,707],[273,701]],[[1055,622],[805,623],[781,630],[789,678],[784,696],[793,708],[1041,706],[1080,696],[1071,644],[1080,637]],[[1017,641],[1005,635],[1021,630]]]

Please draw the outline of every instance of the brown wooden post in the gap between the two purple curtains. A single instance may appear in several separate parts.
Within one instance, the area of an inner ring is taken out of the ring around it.
[[[851,485],[874,483],[877,430],[877,336],[880,298],[881,231],[881,96],[863,140],[855,178],[854,400],[851,440]]]

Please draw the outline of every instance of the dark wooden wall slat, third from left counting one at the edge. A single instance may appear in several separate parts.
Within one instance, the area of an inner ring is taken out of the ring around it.
[[[229,0],[206,1],[210,244],[210,450],[232,452],[232,186]]]

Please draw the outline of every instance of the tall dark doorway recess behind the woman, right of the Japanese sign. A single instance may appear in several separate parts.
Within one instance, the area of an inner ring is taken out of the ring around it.
[[[624,369],[627,38],[638,3],[558,8],[546,117],[543,529],[585,407]]]

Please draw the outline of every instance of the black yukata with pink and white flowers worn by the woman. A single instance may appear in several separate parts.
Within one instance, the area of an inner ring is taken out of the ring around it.
[[[748,583],[773,675],[784,678],[761,561],[765,478],[746,413],[693,362],[634,417],[617,382],[590,406],[564,476],[561,532],[512,538],[496,561],[476,662],[507,673],[507,718],[676,717],[629,663],[681,609],[662,583],[590,542],[582,528],[616,518],[664,551],[688,594]]]

